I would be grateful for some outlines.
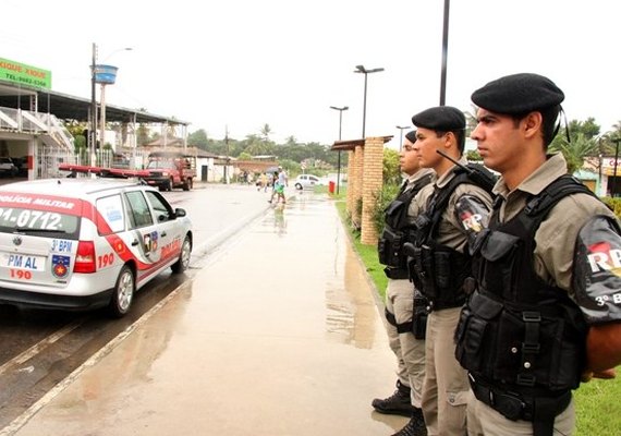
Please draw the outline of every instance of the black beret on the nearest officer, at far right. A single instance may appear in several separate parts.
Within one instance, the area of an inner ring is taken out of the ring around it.
[[[521,114],[558,106],[565,96],[548,77],[520,73],[489,82],[471,98],[476,106],[491,112]]]

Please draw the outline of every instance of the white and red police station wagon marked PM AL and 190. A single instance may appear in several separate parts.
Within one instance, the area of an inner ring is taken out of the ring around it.
[[[119,179],[0,186],[0,303],[125,315],[166,268],[183,272],[192,225],[154,187]]]

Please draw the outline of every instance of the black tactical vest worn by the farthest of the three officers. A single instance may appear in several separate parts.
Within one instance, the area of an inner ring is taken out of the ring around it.
[[[407,240],[407,208],[412,198],[431,182],[433,175],[428,174],[416,182],[413,186],[403,185],[401,192],[383,210],[385,227],[377,243],[379,263],[386,265],[387,276],[390,278],[407,278],[406,256],[403,254],[403,243]]]

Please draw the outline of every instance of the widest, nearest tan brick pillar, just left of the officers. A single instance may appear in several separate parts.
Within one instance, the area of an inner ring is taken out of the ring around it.
[[[377,230],[373,219],[373,208],[383,183],[383,137],[367,137],[365,140],[362,182],[362,218],[361,242],[366,245],[377,244]]]

